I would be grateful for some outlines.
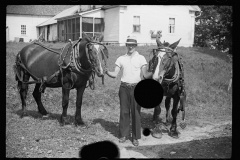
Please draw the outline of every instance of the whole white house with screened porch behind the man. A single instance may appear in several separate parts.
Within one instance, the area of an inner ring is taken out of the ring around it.
[[[190,5],[108,5],[86,12],[57,18],[58,37],[76,40],[82,32],[104,33],[105,43],[124,45],[128,35],[137,37],[140,45],[155,44],[151,31],[162,30],[161,40],[169,43],[182,38],[179,46],[194,42],[195,12]]]

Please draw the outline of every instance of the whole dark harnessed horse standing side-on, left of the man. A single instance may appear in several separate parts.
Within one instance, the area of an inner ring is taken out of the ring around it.
[[[14,71],[18,82],[18,89],[22,101],[21,117],[26,116],[26,95],[28,85],[36,83],[33,97],[37,103],[38,111],[42,116],[48,116],[41,102],[41,93],[46,87],[62,87],[62,115],[60,123],[67,122],[67,108],[69,103],[69,93],[71,89],[77,90],[75,125],[83,125],[81,118],[81,106],[83,93],[89,78],[95,73],[98,77],[103,77],[103,67],[101,62],[107,65],[108,51],[99,41],[95,41],[83,33],[83,38],[65,45],[61,50],[50,49],[40,43],[32,43],[25,46],[16,57]],[[101,57],[101,58],[100,58]],[[34,81],[29,82],[32,77]],[[93,79],[94,80],[94,79]],[[90,87],[94,81],[89,81]]]

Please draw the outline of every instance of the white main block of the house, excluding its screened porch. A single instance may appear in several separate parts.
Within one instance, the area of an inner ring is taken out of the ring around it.
[[[162,30],[161,41],[173,43],[182,38],[179,46],[194,43],[195,12],[198,6],[187,5],[126,5],[105,10],[105,41],[124,44],[131,34],[142,44],[154,43],[150,31]]]

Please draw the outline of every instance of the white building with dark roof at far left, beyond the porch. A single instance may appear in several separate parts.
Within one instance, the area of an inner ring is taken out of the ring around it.
[[[6,8],[6,41],[37,38],[37,25],[74,5],[8,5]]]

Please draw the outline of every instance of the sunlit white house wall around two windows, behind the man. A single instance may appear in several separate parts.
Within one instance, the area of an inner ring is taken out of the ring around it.
[[[136,36],[138,43],[156,44],[151,38],[150,30],[155,33],[162,30],[161,41],[173,43],[182,38],[179,46],[192,46],[194,37],[194,21],[187,6],[153,6],[129,5],[120,9],[119,43],[124,45],[128,35]],[[140,16],[141,31],[133,33],[133,16]],[[168,33],[169,18],[175,18],[175,33]]]

